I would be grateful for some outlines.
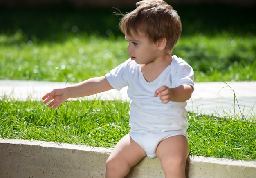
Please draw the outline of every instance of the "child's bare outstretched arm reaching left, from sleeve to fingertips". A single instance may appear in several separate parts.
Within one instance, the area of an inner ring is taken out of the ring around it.
[[[42,99],[44,100],[44,104],[52,100],[52,102],[50,102],[47,106],[56,109],[68,98],[89,96],[103,91],[108,91],[110,89],[113,89],[113,87],[109,84],[105,76],[101,76],[90,78],[65,88],[54,89],[51,92],[45,94]]]

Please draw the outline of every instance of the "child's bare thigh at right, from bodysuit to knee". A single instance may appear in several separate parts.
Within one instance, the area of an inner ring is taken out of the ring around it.
[[[156,153],[161,162],[163,159],[186,162],[189,154],[189,144],[183,135],[172,136],[159,143]]]

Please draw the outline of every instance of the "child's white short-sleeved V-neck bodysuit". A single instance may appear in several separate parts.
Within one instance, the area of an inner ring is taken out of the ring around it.
[[[171,64],[153,81],[147,82],[140,65],[131,59],[107,73],[110,85],[121,90],[128,86],[130,102],[130,136],[150,158],[156,157],[156,149],[165,138],[184,135],[186,129],[186,102],[163,104],[155,91],[162,87],[175,88],[183,84],[194,87],[193,69],[182,58],[173,56]]]

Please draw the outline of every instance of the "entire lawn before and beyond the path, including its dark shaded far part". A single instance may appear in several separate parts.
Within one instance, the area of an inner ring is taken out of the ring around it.
[[[173,54],[193,67],[195,82],[256,80],[252,7],[175,9],[183,31]],[[117,23],[112,9],[0,7],[0,79],[80,82],[104,75],[129,57]],[[53,110],[2,97],[0,138],[114,147],[129,131],[128,110],[122,101],[81,99]],[[256,160],[255,117],[187,119],[191,155]]]

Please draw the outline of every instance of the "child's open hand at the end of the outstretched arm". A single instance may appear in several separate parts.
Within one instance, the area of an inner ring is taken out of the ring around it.
[[[52,102],[50,102],[49,105],[47,105],[47,107],[52,107],[53,109],[56,109],[59,105],[61,105],[61,103],[63,103],[68,98],[69,97],[67,96],[65,88],[54,89],[42,97],[42,99],[44,100],[44,104],[52,100]]]

